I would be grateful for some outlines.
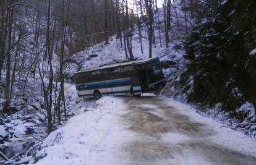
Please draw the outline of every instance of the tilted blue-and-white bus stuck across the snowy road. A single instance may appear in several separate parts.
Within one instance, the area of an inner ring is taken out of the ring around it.
[[[158,57],[88,68],[75,72],[74,79],[79,97],[95,99],[104,95],[140,96],[166,83]]]

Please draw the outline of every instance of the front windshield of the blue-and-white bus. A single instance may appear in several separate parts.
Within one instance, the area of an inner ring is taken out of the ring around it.
[[[148,64],[148,78],[150,81],[157,80],[162,77],[161,66],[159,61],[153,61]]]

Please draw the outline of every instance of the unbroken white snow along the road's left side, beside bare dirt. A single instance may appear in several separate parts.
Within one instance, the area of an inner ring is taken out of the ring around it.
[[[121,164],[116,148],[124,142],[121,137],[129,138],[116,117],[122,109],[119,98],[105,96],[96,101],[95,108],[72,117],[49,134],[41,145],[44,149],[36,154],[46,157],[36,164]]]

